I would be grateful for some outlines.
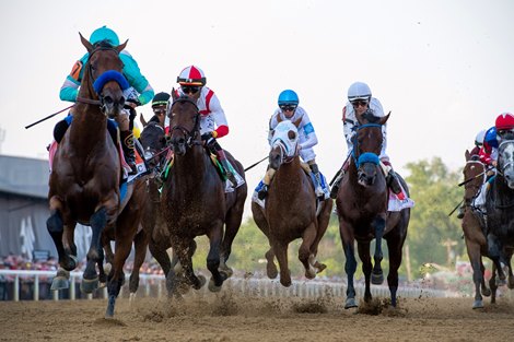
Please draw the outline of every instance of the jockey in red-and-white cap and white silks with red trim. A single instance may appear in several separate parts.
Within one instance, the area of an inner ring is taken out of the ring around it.
[[[180,71],[177,76],[177,83],[180,86],[176,90],[178,96],[188,96],[194,99],[198,106],[200,114],[200,134],[205,145],[213,153],[218,161],[225,169],[226,178],[234,187],[244,184],[243,178],[237,175],[234,167],[226,158],[225,151],[221,148],[217,139],[229,134],[229,123],[225,113],[221,107],[218,96],[212,90],[206,86],[207,79],[203,71],[196,67],[189,66]],[[168,117],[166,116],[166,127],[170,127]]]

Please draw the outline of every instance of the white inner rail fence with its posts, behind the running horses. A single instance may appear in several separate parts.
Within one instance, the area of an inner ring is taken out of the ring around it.
[[[0,300],[60,300],[60,299],[93,299],[107,298],[107,288],[98,288],[93,294],[83,294],[80,291],[82,272],[70,272],[70,288],[50,291],[55,271],[31,270],[0,270]],[[128,278],[121,287],[119,297],[128,297]],[[255,278],[230,278],[223,284],[240,295],[257,297],[301,297],[316,298],[324,295],[346,297],[346,283],[328,281],[293,281],[290,287],[284,287],[278,280]],[[357,295],[364,295],[364,285],[355,284]],[[208,292],[203,286],[200,292]],[[372,285],[371,292],[377,297],[388,297],[387,285]],[[140,274],[138,297],[163,297],[167,295],[166,281],[163,275]],[[399,286],[397,295],[400,297],[458,297],[462,294],[451,291],[424,287]]]

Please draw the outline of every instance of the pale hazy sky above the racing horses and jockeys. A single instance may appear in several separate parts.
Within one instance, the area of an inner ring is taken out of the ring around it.
[[[0,153],[47,158],[66,113],[24,127],[70,105],[59,89],[85,54],[79,32],[107,25],[156,93],[187,66],[203,70],[231,130],[219,142],[245,167],[268,154],[269,117],[292,89],[331,179],[347,155],[347,91],[362,81],[392,111],[397,170],[433,157],[460,169],[477,132],[514,111],[513,14],[510,0],[1,1]],[[150,105],[138,113],[152,116]],[[247,172],[248,192],[265,170]]]

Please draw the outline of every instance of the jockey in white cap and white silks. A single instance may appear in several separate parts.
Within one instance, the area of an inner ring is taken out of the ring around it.
[[[372,97],[370,86],[367,86],[367,84],[363,82],[355,82],[352,85],[350,85],[350,87],[348,89],[348,103],[342,108],[342,125],[343,125],[342,127],[343,127],[344,138],[348,144],[349,155],[353,151],[352,138],[355,134],[357,128],[359,126],[359,121],[357,120],[357,117],[362,116],[367,110],[372,110],[374,116],[376,117],[384,116],[384,109],[382,108],[382,104],[377,98]],[[407,196],[406,193],[404,193],[400,182],[398,180],[398,177],[396,176],[395,172],[393,170],[393,166],[390,165],[389,156],[386,154],[386,146],[387,146],[387,126],[386,125],[382,127],[383,142],[382,142],[382,151],[379,155],[381,166],[383,170],[386,173],[387,186],[393,190],[393,192],[398,197],[398,199],[404,200],[407,198]],[[342,165],[341,169],[338,172],[336,176],[336,180],[330,191],[330,197],[332,199],[337,198],[340,181],[344,173],[348,170],[349,165],[350,165],[349,158],[347,157],[344,164]]]

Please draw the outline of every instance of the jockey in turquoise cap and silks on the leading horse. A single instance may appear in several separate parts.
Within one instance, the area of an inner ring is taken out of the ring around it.
[[[91,44],[95,45],[101,42],[106,42],[114,47],[119,45],[118,35],[107,26],[96,28],[91,34]],[[116,127],[119,128],[119,135],[121,138],[121,146],[124,149],[125,158],[127,164],[132,169],[130,174],[133,175],[137,173],[132,133],[133,118],[136,117],[135,108],[138,105],[144,105],[149,103],[152,99],[154,92],[147,79],[141,74],[138,63],[127,50],[122,50],[119,54],[119,58],[124,62],[122,73],[130,84],[130,87],[125,91],[127,98],[126,105],[129,106],[129,110],[124,110],[125,113],[122,111],[121,115],[116,118],[117,125],[113,120],[107,120],[107,129],[112,135],[117,137]],[[80,83],[84,73],[83,67],[87,62],[87,59],[89,52],[86,52],[73,64],[71,73],[66,78],[65,83],[60,89],[60,99],[77,102]],[[71,111],[70,115],[72,115]],[[54,129],[54,138],[57,142],[60,142],[70,122],[70,119],[65,119],[57,122],[56,128]]]

